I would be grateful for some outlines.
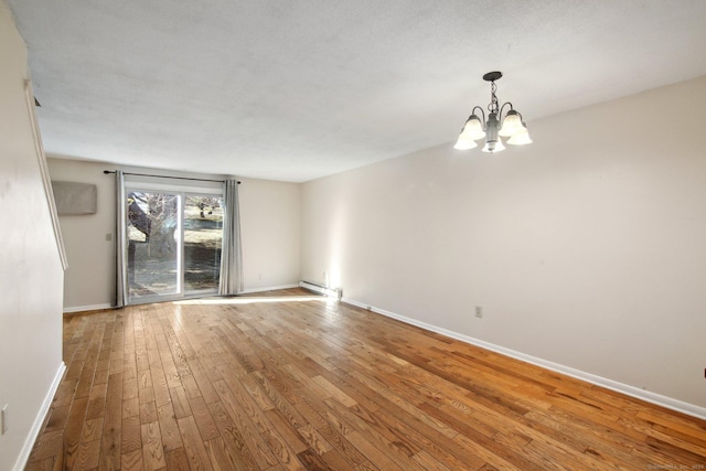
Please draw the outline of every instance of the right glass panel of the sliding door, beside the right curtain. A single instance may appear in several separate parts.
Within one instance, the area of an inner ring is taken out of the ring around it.
[[[184,197],[184,292],[218,290],[223,202],[220,196]]]

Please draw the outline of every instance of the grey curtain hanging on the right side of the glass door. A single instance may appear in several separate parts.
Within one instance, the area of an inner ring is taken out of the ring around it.
[[[226,180],[223,191],[223,246],[221,249],[220,295],[243,291],[243,253],[240,248],[240,210],[238,181]]]

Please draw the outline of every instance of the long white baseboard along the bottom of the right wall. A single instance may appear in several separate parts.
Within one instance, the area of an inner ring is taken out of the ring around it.
[[[484,342],[479,339],[474,339],[472,336],[463,335],[458,332],[453,332],[447,329],[442,329],[436,325],[428,324],[426,322],[418,321],[416,319],[407,318],[405,315],[400,315],[391,311],[386,311],[384,309],[376,308],[374,306],[365,304],[360,301],[355,301],[353,299],[343,298],[342,302],[346,302],[349,304],[356,306],[362,309],[366,309],[368,311],[375,312],[377,314],[386,315],[392,319],[396,319],[398,321],[405,322],[407,324],[416,325],[421,329],[426,329],[431,332],[440,333],[442,335],[449,336],[451,339],[459,340],[461,342],[470,343],[471,345],[477,345],[485,350],[490,350],[495,353],[500,353],[505,356],[510,356],[515,360],[520,360],[522,362],[531,363],[536,366],[541,366],[546,370],[550,370],[553,372],[561,373],[567,376],[575,377],[577,379],[585,381],[587,383],[595,384],[597,386],[605,387],[606,389],[611,389],[617,393],[624,394],[625,396],[634,397],[646,403],[656,404],[662,407],[666,407],[667,409],[676,410],[678,413],[683,413],[689,416],[697,417],[699,419],[706,419],[706,407],[696,406],[694,404],[685,403],[683,400],[674,399],[672,397],[662,396],[661,394],[652,393],[650,390],[640,389],[639,387],[630,386],[628,384],[619,383],[613,379],[609,379],[602,376],[598,376],[591,373],[586,373],[580,370],[573,368],[570,366],[561,365],[558,363],[550,362],[548,360],[538,358],[536,356],[527,355],[522,352],[517,352],[515,350],[505,349],[504,346],[495,345],[490,342]]]

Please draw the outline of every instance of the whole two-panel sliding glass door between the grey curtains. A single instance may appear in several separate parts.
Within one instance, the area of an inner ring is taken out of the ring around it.
[[[127,185],[125,194],[128,303],[216,293],[222,196]]]

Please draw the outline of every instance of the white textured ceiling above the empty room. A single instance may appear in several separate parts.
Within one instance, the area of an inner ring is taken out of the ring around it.
[[[704,0],[4,1],[47,153],[205,173],[301,182],[451,142],[489,71],[530,128],[706,75]]]

